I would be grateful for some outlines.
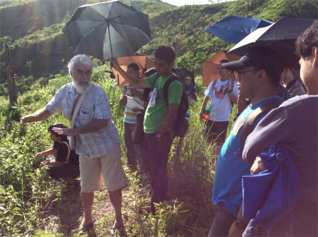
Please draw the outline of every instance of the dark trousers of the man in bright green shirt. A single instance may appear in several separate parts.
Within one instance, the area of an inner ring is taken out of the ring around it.
[[[154,203],[163,201],[168,189],[167,163],[172,141],[170,132],[165,133],[160,139],[156,137],[156,133],[145,134],[145,147],[147,147],[145,155],[149,159],[153,189],[151,207],[154,214],[156,213]]]

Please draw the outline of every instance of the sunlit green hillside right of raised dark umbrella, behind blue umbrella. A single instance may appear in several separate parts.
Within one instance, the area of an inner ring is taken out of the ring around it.
[[[245,4],[249,2],[249,4]],[[202,72],[202,62],[220,49],[233,44],[204,33],[211,24],[230,15],[249,16],[277,21],[284,16],[318,18],[316,0],[236,0],[210,5],[188,5],[163,12],[151,18],[153,40],[144,50],[152,55],[162,44],[172,45],[178,54],[177,67],[187,67],[196,74]]]

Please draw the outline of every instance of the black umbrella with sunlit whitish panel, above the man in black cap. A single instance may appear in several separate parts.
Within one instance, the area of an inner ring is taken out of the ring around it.
[[[235,45],[229,53],[243,56],[256,46],[264,46],[278,52],[287,67],[299,68],[295,55],[295,41],[315,19],[299,19],[284,17],[272,25],[255,30]]]

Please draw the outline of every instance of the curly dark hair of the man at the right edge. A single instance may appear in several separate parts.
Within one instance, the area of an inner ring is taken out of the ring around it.
[[[296,41],[296,54],[302,58],[312,55],[312,48],[318,47],[318,21],[308,27]]]

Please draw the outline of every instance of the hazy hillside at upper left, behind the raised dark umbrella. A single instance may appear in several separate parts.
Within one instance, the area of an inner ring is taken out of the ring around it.
[[[4,1],[0,8],[1,22],[4,22],[0,24],[0,31],[1,37],[9,36],[12,39],[10,48],[14,73],[20,77],[32,75],[35,79],[59,73],[74,55],[62,33],[63,27],[79,5],[101,1],[103,0]],[[174,7],[160,0],[123,2],[132,4],[150,16]],[[1,54],[0,96],[6,95],[4,70]]]

